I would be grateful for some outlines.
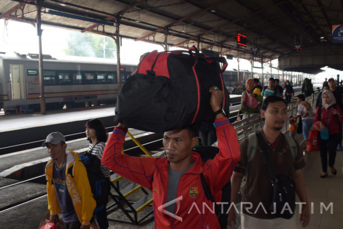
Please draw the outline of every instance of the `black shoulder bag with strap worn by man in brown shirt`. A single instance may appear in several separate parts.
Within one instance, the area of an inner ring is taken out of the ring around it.
[[[295,211],[295,183],[289,176],[279,175],[275,178],[272,168],[272,161],[268,153],[267,144],[262,136],[261,131],[257,132],[258,142],[262,148],[267,171],[272,181],[273,196],[272,203],[269,207],[271,214],[275,214],[284,219],[290,219]],[[288,204],[288,206],[285,204]],[[291,211],[289,211],[291,209]],[[284,210],[282,212],[282,210]]]

